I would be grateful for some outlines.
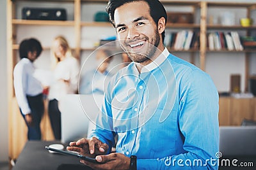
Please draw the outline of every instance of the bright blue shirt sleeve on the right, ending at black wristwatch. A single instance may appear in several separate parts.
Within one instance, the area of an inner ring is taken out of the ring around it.
[[[159,159],[138,159],[138,169],[218,169],[218,92],[209,76],[191,71],[181,80],[180,133],[186,153]]]

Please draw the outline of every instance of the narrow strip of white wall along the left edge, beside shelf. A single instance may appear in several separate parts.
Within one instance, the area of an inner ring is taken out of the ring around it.
[[[0,162],[8,161],[6,1],[0,1]]]

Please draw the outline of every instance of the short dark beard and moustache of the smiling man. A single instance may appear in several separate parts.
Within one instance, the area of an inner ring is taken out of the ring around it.
[[[136,41],[141,39],[146,39],[149,42],[149,38],[147,36],[140,39],[136,39]],[[147,45],[147,49],[145,50],[145,52],[131,52],[129,48],[125,48],[126,46],[129,46],[130,42],[131,41],[128,41],[128,42],[124,41],[124,45],[122,45],[122,48],[125,50],[128,57],[132,61],[141,63],[141,62],[146,62],[147,60],[152,59],[152,57],[155,55],[157,46],[159,45],[159,42],[160,42],[160,36],[158,34],[158,31],[155,30],[155,36],[151,39],[149,43],[144,44],[144,45]]]

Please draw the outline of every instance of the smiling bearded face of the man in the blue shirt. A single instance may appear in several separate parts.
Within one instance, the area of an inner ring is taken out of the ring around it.
[[[152,59],[160,37],[148,4],[144,1],[124,4],[116,8],[114,18],[118,40],[131,60]]]

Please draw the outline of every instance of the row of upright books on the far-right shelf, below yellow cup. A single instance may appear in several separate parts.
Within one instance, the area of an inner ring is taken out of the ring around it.
[[[207,36],[209,50],[243,51],[243,45],[236,31],[211,32]]]

